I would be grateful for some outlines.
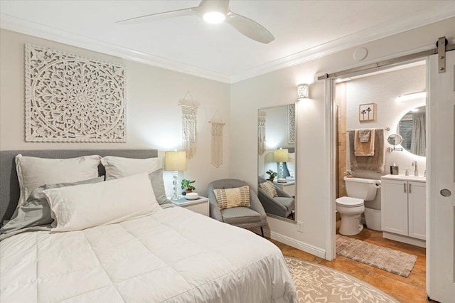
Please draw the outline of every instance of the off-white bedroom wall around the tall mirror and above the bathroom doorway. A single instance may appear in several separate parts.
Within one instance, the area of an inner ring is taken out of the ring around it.
[[[314,75],[434,48],[441,36],[455,36],[455,18],[366,43],[363,47],[368,49],[368,57],[362,63],[355,62],[355,48],[351,48],[233,84],[230,164],[236,169],[231,176],[255,184],[259,108],[295,102],[296,85],[312,81]],[[296,217],[304,224],[304,232],[298,233],[294,223],[268,218],[274,238],[316,255],[325,255],[331,245],[331,141],[326,136],[330,108],[321,80],[311,85],[311,99],[297,105]]]

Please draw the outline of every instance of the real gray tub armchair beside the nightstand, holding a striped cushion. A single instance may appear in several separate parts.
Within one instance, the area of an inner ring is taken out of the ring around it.
[[[221,179],[213,181],[208,184],[207,193],[210,206],[210,217],[221,222],[235,225],[241,228],[254,228],[260,227],[262,237],[264,237],[264,230],[262,227],[267,225],[267,215],[261,202],[256,196],[256,193],[250,188],[250,208],[246,207],[232,207],[225,208],[220,211],[216,203],[214,189],[223,188],[236,188],[248,185],[245,181],[237,179]]]

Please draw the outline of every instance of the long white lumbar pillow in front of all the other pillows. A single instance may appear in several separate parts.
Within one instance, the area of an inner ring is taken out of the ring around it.
[[[97,184],[46,189],[43,193],[56,222],[52,232],[82,230],[163,211],[146,173]]]

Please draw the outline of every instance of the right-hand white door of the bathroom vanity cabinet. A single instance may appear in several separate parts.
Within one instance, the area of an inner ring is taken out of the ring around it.
[[[425,184],[411,181],[408,183],[409,235],[413,238],[426,240]]]

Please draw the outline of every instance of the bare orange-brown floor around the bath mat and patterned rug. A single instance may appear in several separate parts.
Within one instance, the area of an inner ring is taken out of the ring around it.
[[[425,248],[387,240],[382,238],[382,232],[370,230],[368,228],[363,228],[362,232],[358,235],[354,235],[353,238],[364,240],[368,243],[373,243],[385,248],[417,255],[417,262],[409,277],[402,277],[341,255],[337,255],[336,260],[327,261],[321,257],[316,257],[296,248],[292,248],[289,245],[279,243],[275,240],[271,241],[282,250],[284,256],[316,262],[341,272],[346,272],[359,280],[363,280],[370,285],[381,289],[382,292],[389,294],[400,302],[427,302],[427,293],[425,291]]]

